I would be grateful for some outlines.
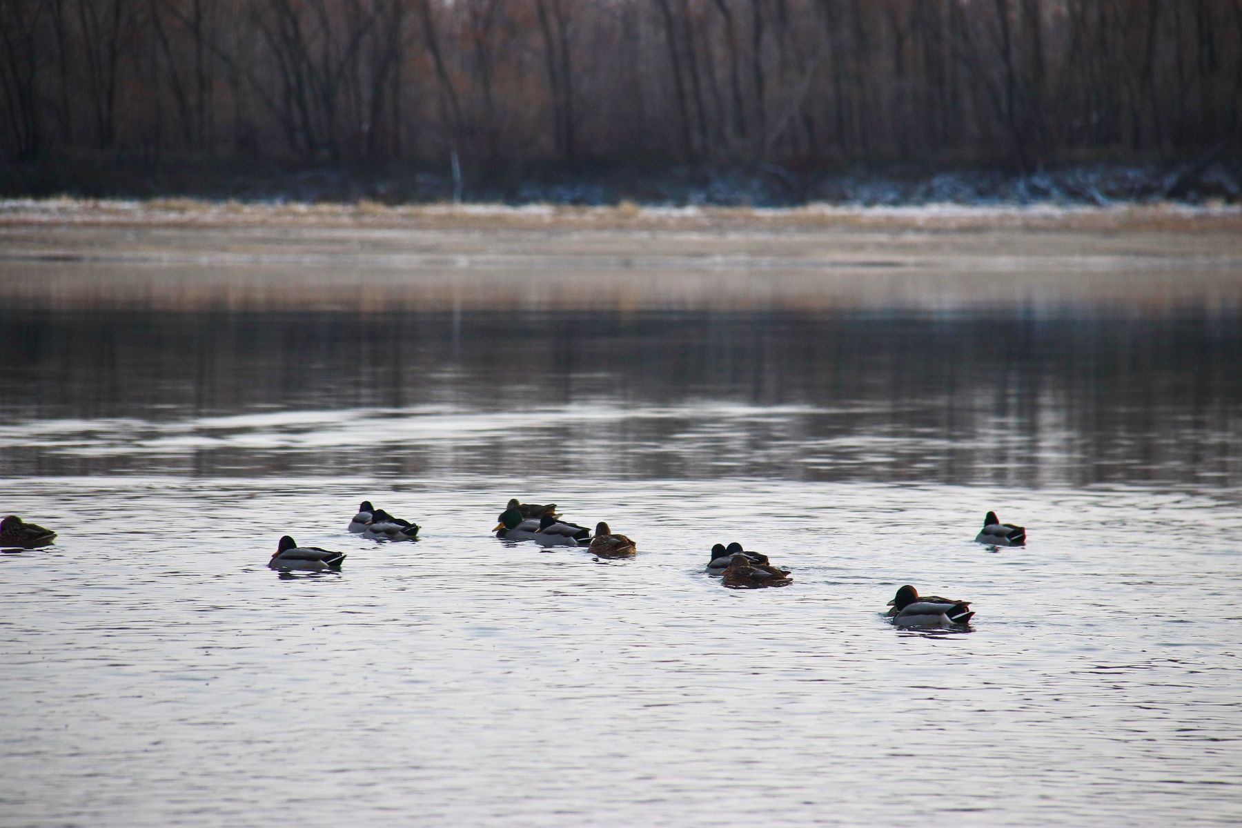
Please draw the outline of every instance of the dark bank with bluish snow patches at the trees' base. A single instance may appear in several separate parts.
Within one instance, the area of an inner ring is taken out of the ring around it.
[[[895,163],[805,169],[582,163],[472,170],[447,159],[307,166],[201,156],[143,163],[101,154],[0,165],[0,197],[60,196],[513,207],[1242,205],[1242,155],[1218,149],[1197,159],[1095,159],[1028,170]]]

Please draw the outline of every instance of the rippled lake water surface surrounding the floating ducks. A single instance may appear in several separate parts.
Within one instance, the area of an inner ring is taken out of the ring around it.
[[[1236,241],[96,232],[0,241],[0,513],[60,531],[0,555],[0,824],[1242,821]],[[638,555],[498,541],[510,497]]]

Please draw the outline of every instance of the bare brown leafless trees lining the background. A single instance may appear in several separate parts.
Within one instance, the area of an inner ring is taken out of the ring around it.
[[[0,150],[1033,165],[1242,129],[1242,0],[0,0]]]

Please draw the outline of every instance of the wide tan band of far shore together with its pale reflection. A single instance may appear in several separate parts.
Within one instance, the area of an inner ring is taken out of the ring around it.
[[[0,201],[25,308],[1242,307],[1242,209]]]

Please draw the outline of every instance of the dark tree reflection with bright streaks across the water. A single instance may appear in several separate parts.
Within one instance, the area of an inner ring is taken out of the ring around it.
[[[1242,482],[1220,309],[0,313],[15,474]],[[623,451],[619,451],[623,449]]]

